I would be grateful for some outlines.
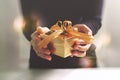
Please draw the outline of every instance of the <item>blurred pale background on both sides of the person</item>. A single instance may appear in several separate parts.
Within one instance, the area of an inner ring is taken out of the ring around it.
[[[22,34],[21,24],[19,0],[0,0],[0,70],[28,69],[30,43]],[[102,24],[95,36],[98,65],[119,68],[120,0],[105,0]]]

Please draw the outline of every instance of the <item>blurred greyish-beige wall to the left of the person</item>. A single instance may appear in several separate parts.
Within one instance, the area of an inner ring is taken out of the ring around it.
[[[29,42],[20,28],[14,26],[20,16],[19,0],[0,0],[0,69],[28,66]]]

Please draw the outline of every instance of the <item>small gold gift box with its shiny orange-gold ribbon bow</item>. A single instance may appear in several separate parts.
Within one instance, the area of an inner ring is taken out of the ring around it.
[[[50,28],[50,32],[42,33],[44,38],[40,43],[40,47],[46,48],[49,42],[53,42],[55,55],[66,58],[71,55],[73,40],[76,38],[84,40],[86,43],[93,42],[93,36],[79,32],[73,29],[72,22],[65,20],[58,21]]]

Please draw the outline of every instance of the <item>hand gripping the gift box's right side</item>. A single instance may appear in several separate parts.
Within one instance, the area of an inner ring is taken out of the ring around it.
[[[76,24],[73,26],[74,29],[77,28],[79,32],[92,35],[91,29],[85,24]],[[91,44],[85,43],[81,39],[75,39],[72,45],[71,56],[84,57],[86,56],[86,51],[90,48]]]

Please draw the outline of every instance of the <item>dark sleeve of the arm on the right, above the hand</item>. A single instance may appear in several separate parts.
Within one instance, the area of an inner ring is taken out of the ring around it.
[[[102,21],[103,0],[90,0],[86,3],[84,15],[79,21],[81,24],[86,24],[95,35],[101,27]]]

